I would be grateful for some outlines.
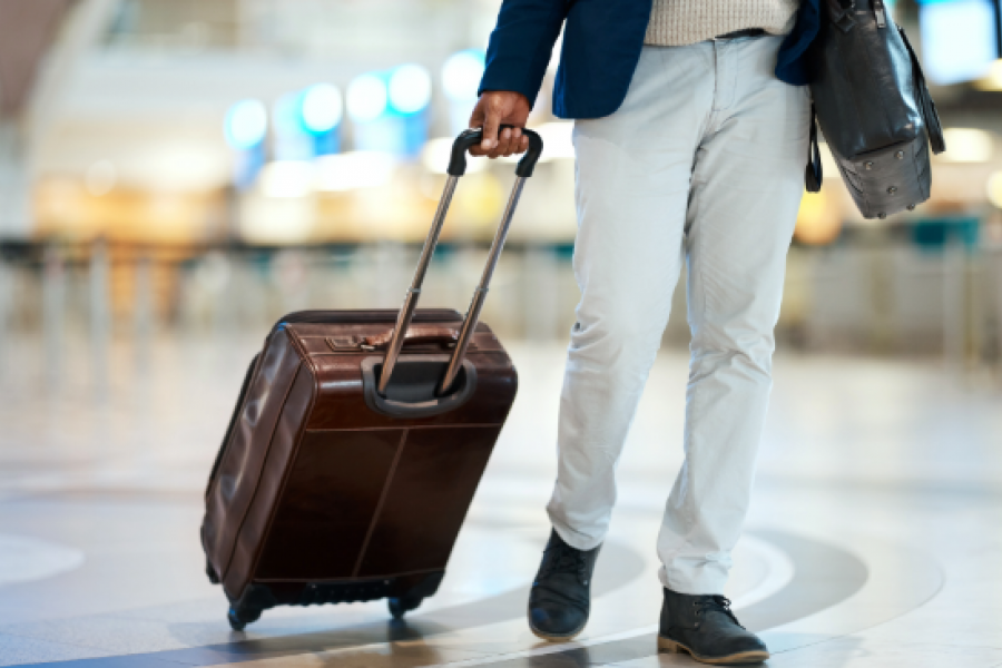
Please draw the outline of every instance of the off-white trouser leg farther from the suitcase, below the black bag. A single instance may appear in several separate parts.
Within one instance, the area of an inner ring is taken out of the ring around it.
[[[808,112],[806,90],[773,75],[779,41],[713,43],[714,115],[697,151],[686,223],[686,462],[658,539],[662,583],[685,595],[723,592],[772,387]]]

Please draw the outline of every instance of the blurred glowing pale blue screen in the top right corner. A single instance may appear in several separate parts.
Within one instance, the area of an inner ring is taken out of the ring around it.
[[[999,57],[991,0],[924,0],[918,21],[922,61],[934,84],[979,79]]]

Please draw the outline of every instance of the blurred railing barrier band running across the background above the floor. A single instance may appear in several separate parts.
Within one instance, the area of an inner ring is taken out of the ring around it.
[[[264,248],[239,245],[7,243],[0,245],[0,347],[67,338],[95,355],[121,341],[263,336],[303,308],[395,308],[418,245]],[[443,244],[422,305],[464,310],[485,245]],[[569,245],[518,244],[502,256],[484,321],[508,340],[564,341],[578,288]],[[685,276],[668,346],[685,346]],[[1002,352],[1002,247],[947,244],[923,252],[891,237],[789,255],[779,346],[941,356],[956,370],[993,370]]]

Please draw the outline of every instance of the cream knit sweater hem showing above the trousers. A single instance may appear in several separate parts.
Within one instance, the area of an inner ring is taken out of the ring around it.
[[[793,30],[799,0],[654,0],[644,43],[684,47],[746,28]]]

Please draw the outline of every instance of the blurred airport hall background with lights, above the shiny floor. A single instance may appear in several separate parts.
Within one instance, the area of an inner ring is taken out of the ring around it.
[[[0,0],[0,374],[51,381],[69,358],[99,383],[122,346],[261,337],[299,308],[397,306],[499,4]],[[949,151],[932,200],[885,220],[858,216],[828,160],[800,210],[780,347],[941,358],[964,384],[999,385],[999,2],[893,12]],[[543,164],[485,312],[507,340],[563,341],[578,296],[554,70],[530,120]],[[510,164],[473,161],[425,305],[464,308],[511,181]],[[687,343],[684,287],[668,346]]]

